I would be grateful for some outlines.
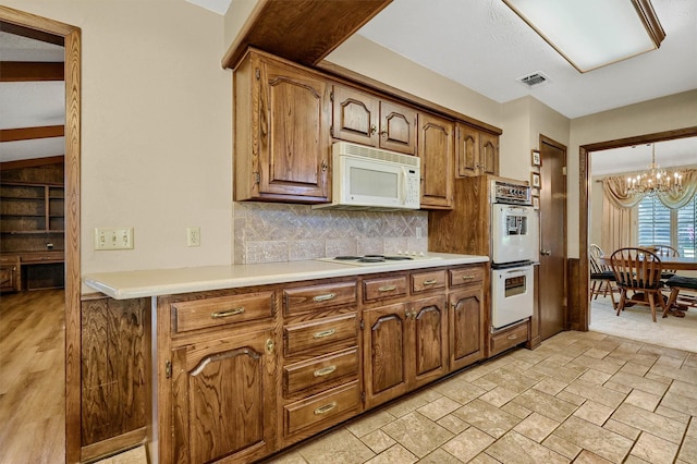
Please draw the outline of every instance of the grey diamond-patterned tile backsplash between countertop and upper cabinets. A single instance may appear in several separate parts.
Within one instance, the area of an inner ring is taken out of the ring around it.
[[[316,210],[308,205],[235,202],[233,231],[236,265],[428,251],[426,211]]]

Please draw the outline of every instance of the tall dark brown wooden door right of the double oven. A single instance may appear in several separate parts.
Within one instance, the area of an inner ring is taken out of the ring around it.
[[[540,136],[539,331],[566,329],[566,147]]]

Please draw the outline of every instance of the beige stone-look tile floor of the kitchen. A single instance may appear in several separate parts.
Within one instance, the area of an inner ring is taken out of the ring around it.
[[[697,353],[562,332],[267,462],[697,463]]]

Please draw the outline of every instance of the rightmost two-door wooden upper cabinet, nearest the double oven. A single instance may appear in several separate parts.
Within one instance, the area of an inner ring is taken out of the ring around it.
[[[457,178],[499,174],[499,137],[469,125],[457,123],[455,158]]]

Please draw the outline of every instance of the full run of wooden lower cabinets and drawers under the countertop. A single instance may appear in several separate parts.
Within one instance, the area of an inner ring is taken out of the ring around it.
[[[159,462],[254,462],[484,358],[486,270],[158,297]]]

